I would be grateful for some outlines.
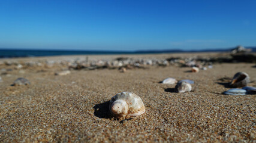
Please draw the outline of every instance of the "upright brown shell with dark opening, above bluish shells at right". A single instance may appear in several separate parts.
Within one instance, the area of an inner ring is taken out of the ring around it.
[[[234,77],[230,83],[230,86],[237,88],[237,87],[244,87],[250,82],[249,76],[245,72],[239,72],[234,74]]]

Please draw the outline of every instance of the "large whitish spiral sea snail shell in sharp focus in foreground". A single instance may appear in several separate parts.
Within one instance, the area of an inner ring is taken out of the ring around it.
[[[110,100],[109,109],[117,117],[138,116],[145,112],[142,100],[132,92],[116,94]]]

